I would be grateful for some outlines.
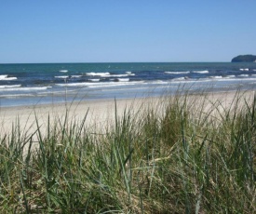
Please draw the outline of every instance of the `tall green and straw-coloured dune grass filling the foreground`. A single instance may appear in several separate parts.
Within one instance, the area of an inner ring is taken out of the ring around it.
[[[256,98],[177,93],[100,129],[68,114],[1,136],[1,213],[256,213]]]

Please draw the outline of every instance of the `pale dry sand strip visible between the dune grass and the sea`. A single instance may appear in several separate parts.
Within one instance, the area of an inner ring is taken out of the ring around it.
[[[229,107],[235,95],[236,92],[208,93],[206,111],[213,105],[221,106],[221,108]],[[243,98],[251,99],[251,95],[254,95],[254,91],[241,92],[240,96],[241,95],[243,95]],[[197,97],[195,98],[195,96]],[[198,100],[198,104],[201,103],[200,98],[204,100],[204,96],[202,95],[195,96],[194,98]],[[139,110],[141,106],[146,107],[155,104],[158,108],[161,106],[159,102],[163,100],[164,98],[116,100],[117,114],[123,114],[125,109],[131,106],[135,112]],[[47,128],[48,119],[50,124],[54,124],[56,121],[58,121],[58,123],[60,121],[63,124],[66,113],[68,113],[69,120],[73,120],[78,124],[87,115],[87,127],[101,128],[115,120],[115,100],[90,100],[72,104],[53,103],[49,105],[7,107],[1,108],[0,111],[0,133],[2,136],[3,134],[10,133],[12,126],[17,125],[17,123],[20,125],[20,130],[33,132],[37,128],[35,121],[38,121],[39,127],[44,131]],[[160,110],[157,109],[156,111],[160,112]]]

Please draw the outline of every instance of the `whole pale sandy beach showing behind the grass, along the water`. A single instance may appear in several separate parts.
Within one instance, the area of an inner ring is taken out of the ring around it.
[[[238,94],[238,96],[237,96]],[[254,91],[227,91],[227,92],[205,92],[193,93],[188,96],[190,100],[197,102],[198,109],[204,105],[203,111],[210,109],[230,108],[236,102],[237,97],[251,100]],[[132,110],[134,113],[142,112],[143,109],[153,107],[159,114],[163,114],[161,108],[163,103],[174,95],[161,97],[134,98],[134,99],[113,99],[113,100],[82,100],[80,102],[37,104],[30,106],[11,106],[0,109],[1,133],[7,134],[12,128],[19,125],[24,133],[33,133],[38,127],[44,133],[48,124],[63,124],[65,119],[68,122],[79,124],[85,118],[85,127],[94,131],[102,131],[102,128],[112,126],[115,123],[115,116],[122,116],[125,111]],[[204,104],[202,103],[204,101]],[[207,103],[206,103],[207,102]],[[116,110],[115,110],[116,109]],[[213,111],[216,114],[216,109]],[[212,113],[213,115],[213,113]],[[48,123],[49,122],[49,123]]]

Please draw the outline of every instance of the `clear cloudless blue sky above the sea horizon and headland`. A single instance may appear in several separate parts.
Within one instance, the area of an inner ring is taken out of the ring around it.
[[[0,0],[0,63],[239,54],[256,54],[255,0]]]

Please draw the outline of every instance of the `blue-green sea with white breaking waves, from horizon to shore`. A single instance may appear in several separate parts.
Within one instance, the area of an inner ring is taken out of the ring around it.
[[[256,63],[0,64],[0,106],[159,96],[178,88],[253,89]]]

